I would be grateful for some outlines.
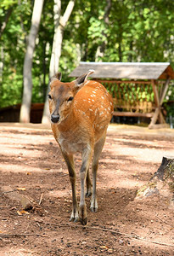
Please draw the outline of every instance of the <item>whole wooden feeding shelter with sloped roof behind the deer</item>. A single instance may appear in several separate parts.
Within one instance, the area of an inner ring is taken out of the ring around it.
[[[78,77],[94,69],[91,78],[104,84],[114,98],[115,116],[151,118],[149,128],[166,126],[162,104],[174,71],[168,62],[80,62],[70,73]]]

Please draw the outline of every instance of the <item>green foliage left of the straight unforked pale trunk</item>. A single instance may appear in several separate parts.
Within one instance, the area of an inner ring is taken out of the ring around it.
[[[16,3],[18,1],[1,3],[4,9],[0,20],[3,20],[6,9],[13,7],[13,12],[9,17],[0,44],[0,63],[3,67],[3,75],[0,78],[0,108],[20,103],[22,96],[25,37],[29,30],[28,24],[31,22],[31,4],[24,2],[22,5],[17,5]],[[25,22],[21,26],[23,19]]]

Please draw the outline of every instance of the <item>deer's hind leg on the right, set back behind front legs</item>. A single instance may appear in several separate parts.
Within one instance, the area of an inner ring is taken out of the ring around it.
[[[104,136],[99,139],[99,141],[95,144],[93,150],[93,163],[92,163],[92,173],[93,173],[93,194],[91,199],[91,211],[97,212],[98,211],[98,201],[96,198],[96,179],[97,179],[97,172],[98,172],[98,160],[100,154],[102,153],[102,149],[104,148],[106,132],[104,132]]]

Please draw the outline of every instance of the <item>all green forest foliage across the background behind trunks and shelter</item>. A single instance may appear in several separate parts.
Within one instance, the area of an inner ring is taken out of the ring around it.
[[[13,7],[0,42],[0,75],[3,64],[0,108],[21,102],[23,63],[33,2],[0,1],[0,24],[3,24],[7,10]],[[68,2],[62,1],[62,14]],[[70,80],[68,75],[79,61],[170,61],[174,65],[173,0],[112,0],[109,24],[104,22],[106,4],[106,0],[76,0],[65,27],[59,62],[64,81]],[[32,66],[32,102],[44,102],[45,99],[53,32],[53,0],[45,0]],[[98,46],[102,44],[105,44],[104,55],[97,57]],[[167,95],[166,102],[173,100],[173,88],[168,90],[171,94]],[[132,90],[135,95],[140,94],[136,87],[132,86]],[[129,95],[125,93],[128,99]],[[148,102],[152,95],[146,89],[141,92]]]

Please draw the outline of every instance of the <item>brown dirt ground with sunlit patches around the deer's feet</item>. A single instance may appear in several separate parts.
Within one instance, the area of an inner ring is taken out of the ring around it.
[[[0,124],[1,186],[42,207],[21,212],[0,189],[0,255],[173,255],[173,209],[160,195],[136,199],[138,188],[174,155],[174,131],[109,125],[98,169],[98,212],[69,222],[68,172],[52,131],[43,125]],[[76,156],[77,195],[81,155]],[[21,215],[20,215],[21,214]]]

